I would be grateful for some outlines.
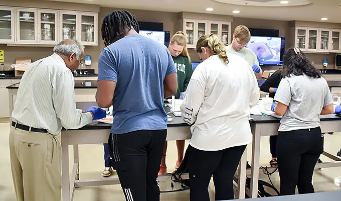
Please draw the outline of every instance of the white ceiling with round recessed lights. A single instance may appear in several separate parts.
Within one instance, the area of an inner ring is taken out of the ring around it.
[[[290,2],[302,0],[287,0],[289,5],[282,7],[268,6],[241,6],[234,4],[226,4],[225,2],[269,2],[270,0],[48,0],[57,2],[73,2],[83,4],[96,4],[102,7],[112,7],[119,9],[139,9],[149,11],[165,11],[165,12],[196,12],[196,13],[212,13],[221,15],[230,15],[242,18],[269,19],[269,20],[299,20],[322,22],[321,18],[328,18],[327,21],[332,23],[341,23],[341,0],[309,0],[311,4],[305,6],[290,6]],[[272,0],[280,2],[280,0]],[[305,1],[306,2],[306,1]],[[264,3],[265,4],[265,3]],[[269,3],[268,3],[269,4]],[[208,12],[206,8],[213,8],[214,11]],[[239,14],[233,14],[232,11],[239,10]]]

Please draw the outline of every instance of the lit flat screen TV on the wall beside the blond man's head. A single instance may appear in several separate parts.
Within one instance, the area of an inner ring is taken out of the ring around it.
[[[283,65],[284,37],[251,36],[246,45],[257,56],[259,65]]]

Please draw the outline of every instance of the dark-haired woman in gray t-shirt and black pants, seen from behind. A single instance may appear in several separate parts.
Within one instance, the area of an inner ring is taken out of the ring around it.
[[[272,111],[283,116],[278,129],[277,160],[280,195],[313,193],[317,159],[323,152],[319,116],[333,113],[329,87],[321,72],[298,49],[283,55],[283,79]]]

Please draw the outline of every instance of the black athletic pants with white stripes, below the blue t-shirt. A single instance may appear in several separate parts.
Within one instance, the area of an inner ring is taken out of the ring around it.
[[[111,165],[127,201],[159,201],[157,173],[167,130],[140,130],[109,136]]]

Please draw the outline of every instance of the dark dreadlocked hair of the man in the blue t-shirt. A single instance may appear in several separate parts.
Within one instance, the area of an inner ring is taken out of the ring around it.
[[[137,18],[128,11],[113,11],[107,14],[102,23],[102,39],[104,45],[108,46],[117,40],[117,37],[124,36],[124,30],[130,31],[134,29],[139,33],[140,28],[137,23]]]

